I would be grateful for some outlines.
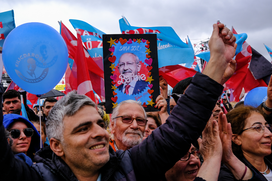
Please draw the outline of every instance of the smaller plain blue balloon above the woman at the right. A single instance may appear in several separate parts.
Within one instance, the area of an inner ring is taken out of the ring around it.
[[[244,105],[258,107],[266,99],[267,87],[256,87],[246,95]]]

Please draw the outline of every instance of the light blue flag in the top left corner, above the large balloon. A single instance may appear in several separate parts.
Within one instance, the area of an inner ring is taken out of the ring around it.
[[[0,13],[0,47],[3,47],[8,34],[15,28],[14,12],[6,11]]]

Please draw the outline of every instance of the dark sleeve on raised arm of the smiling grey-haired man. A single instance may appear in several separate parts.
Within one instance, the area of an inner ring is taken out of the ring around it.
[[[166,123],[131,148],[137,180],[159,179],[185,155],[205,128],[223,88],[208,76],[195,74]]]

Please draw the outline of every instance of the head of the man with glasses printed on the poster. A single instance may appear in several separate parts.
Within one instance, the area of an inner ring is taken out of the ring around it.
[[[141,69],[141,64],[136,63],[136,58],[134,55],[123,54],[121,58],[119,58],[118,70],[120,74],[124,74],[125,78],[131,77],[133,76],[133,74],[137,75],[140,69]]]

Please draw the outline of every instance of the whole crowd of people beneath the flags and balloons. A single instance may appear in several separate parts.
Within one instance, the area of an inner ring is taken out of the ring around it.
[[[159,78],[158,112],[124,100],[108,115],[105,103],[74,91],[30,109],[26,91],[0,86],[0,180],[272,180],[272,78],[257,108],[224,100],[224,114],[218,102],[235,71],[235,41],[214,24],[202,73],[180,81],[173,98]]]

